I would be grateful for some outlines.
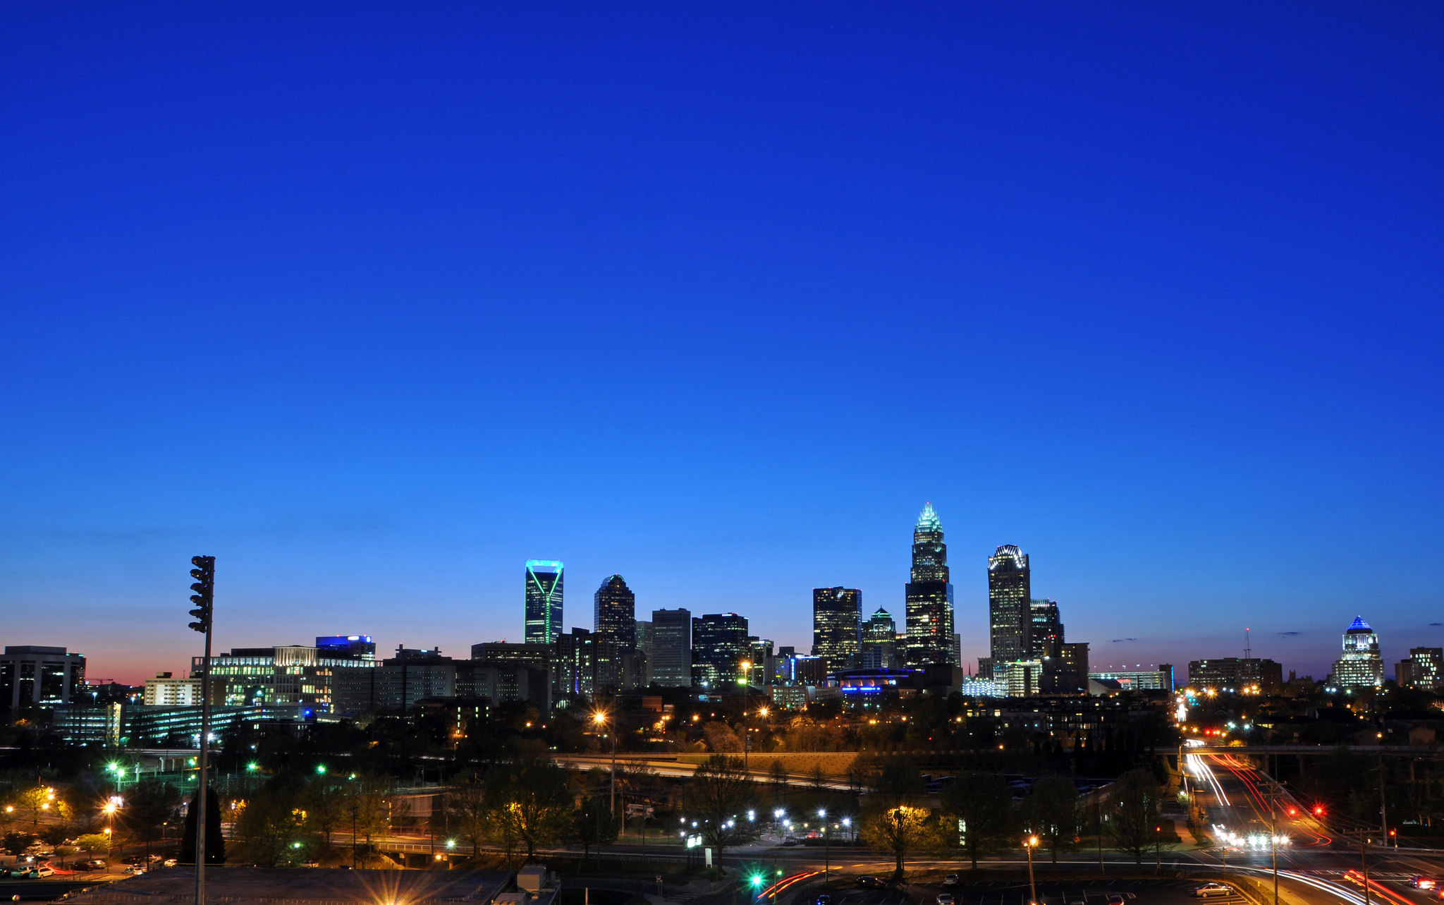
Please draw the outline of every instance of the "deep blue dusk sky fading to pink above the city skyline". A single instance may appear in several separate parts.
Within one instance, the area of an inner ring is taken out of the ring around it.
[[[1444,643],[1444,7],[0,12],[0,642],[521,635],[1018,544],[1093,664]]]

